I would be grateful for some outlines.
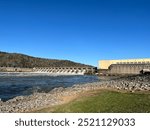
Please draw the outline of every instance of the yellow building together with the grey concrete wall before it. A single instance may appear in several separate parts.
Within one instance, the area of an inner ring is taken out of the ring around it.
[[[99,61],[99,73],[102,75],[140,74],[143,70],[150,70],[150,58]]]

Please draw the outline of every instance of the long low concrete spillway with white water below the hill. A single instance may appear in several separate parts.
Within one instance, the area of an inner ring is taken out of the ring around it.
[[[84,75],[94,74],[94,67],[0,67],[0,72],[32,72],[32,73],[49,73],[53,75]]]

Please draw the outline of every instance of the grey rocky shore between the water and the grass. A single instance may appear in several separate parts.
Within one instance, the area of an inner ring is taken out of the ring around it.
[[[78,95],[82,92],[99,89],[124,90],[129,92],[150,92],[150,75],[120,77],[117,79],[74,85],[69,88],[55,88],[49,93],[35,93],[30,96],[19,96],[3,102],[0,100],[0,113],[31,112],[64,103],[63,97]]]

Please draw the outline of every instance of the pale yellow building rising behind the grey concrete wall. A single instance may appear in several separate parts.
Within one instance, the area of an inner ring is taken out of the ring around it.
[[[108,69],[112,64],[146,64],[150,63],[150,58],[145,59],[124,59],[124,60],[100,60],[99,69]]]

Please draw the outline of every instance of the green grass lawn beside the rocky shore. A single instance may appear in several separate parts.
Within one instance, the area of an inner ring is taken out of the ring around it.
[[[108,90],[87,94],[70,103],[38,112],[54,113],[148,113],[150,112],[150,94],[122,93]]]

